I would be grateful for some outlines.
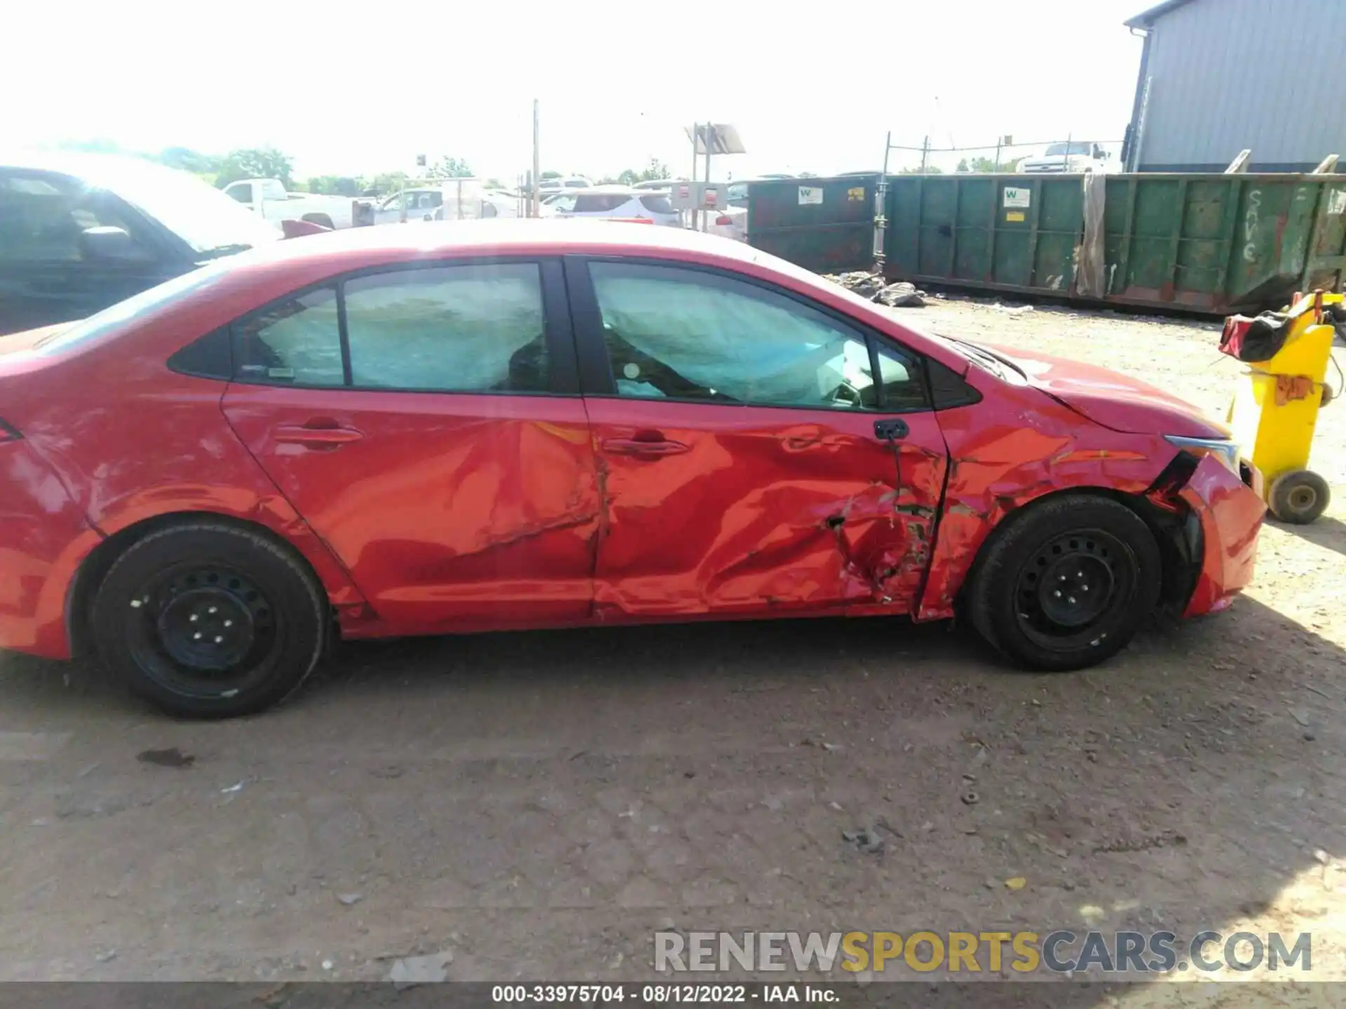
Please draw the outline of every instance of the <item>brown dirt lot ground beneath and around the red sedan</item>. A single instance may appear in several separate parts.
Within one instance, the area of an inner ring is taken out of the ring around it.
[[[1209,323],[900,311],[1214,412],[1237,371]],[[1315,465],[1346,499],[1337,413]],[[1230,612],[1082,675],[945,626],[516,634],[347,646],[283,709],[198,725],[4,657],[0,979],[439,951],[463,979],[643,979],[657,928],[1088,926],[1307,930],[1311,977],[1346,978],[1343,506],[1268,527]],[[843,839],[876,822],[882,853]]]

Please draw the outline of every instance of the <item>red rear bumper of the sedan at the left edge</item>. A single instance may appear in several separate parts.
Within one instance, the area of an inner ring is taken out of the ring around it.
[[[0,648],[70,658],[66,597],[101,538],[27,441],[0,445]]]

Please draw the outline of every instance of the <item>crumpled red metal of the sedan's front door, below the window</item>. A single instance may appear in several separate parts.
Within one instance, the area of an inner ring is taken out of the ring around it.
[[[872,413],[631,400],[588,409],[607,468],[600,618],[910,611],[944,484],[934,414],[905,414],[907,437],[888,444]],[[603,451],[651,432],[686,451]]]

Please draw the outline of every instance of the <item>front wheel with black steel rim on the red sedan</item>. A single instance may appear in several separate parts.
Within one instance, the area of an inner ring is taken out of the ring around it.
[[[1125,504],[1054,495],[1005,519],[977,560],[968,609],[1011,662],[1065,673],[1110,658],[1159,600],[1163,558]]]

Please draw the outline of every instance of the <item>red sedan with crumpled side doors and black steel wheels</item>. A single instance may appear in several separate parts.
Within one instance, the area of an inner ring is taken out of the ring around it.
[[[336,636],[958,616],[1078,669],[1224,608],[1263,518],[1166,393],[607,222],[222,260],[0,340],[0,646],[188,716]]]

